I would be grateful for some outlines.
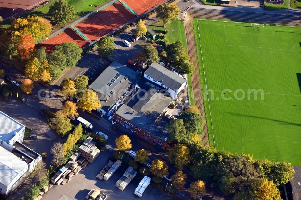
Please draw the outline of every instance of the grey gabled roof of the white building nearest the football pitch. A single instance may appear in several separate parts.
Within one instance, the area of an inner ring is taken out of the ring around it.
[[[179,89],[180,86],[186,82],[184,78],[180,77],[179,75],[173,73],[169,69],[163,67],[162,65],[159,65],[156,62],[151,64],[151,66],[149,66],[144,74],[149,75],[153,79],[157,80],[157,82],[166,85],[174,91]]]

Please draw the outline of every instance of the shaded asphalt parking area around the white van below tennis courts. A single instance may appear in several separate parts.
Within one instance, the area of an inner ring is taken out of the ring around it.
[[[145,44],[147,44],[147,41],[143,40],[142,38],[139,38],[137,41],[133,42],[129,39],[131,35],[131,31],[125,31],[122,34],[116,36],[116,38],[114,38],[115,50],[112,54],[112,57],[115,59],[116,62],[133,68],[133,66],[128,63],[128,60],[132,60],[133,56],[139,51],[141,51],[142,47]],[[131,44],[131,47],[127,47],[123,43],[124,40],[127,40]]]

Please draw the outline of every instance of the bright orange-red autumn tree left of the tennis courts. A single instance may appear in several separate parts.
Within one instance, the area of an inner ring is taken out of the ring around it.
[[[20,42],[17,47],[17,52],[22,60],[29,57],[35,47],[35,41],[31,35],[24,34],[20,37]]]

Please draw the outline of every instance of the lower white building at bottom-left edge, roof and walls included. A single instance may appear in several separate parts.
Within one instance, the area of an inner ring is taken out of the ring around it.
[[[14,190],[30,173],[29,164],[0,146],[0,193]]]

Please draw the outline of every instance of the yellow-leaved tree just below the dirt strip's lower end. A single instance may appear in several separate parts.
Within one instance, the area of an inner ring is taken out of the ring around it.
[[[183,165],[189,161],[190,151],[184,144],[176,144],[169,153],[169,161],[175,164],[175,167],[182,170]]]

